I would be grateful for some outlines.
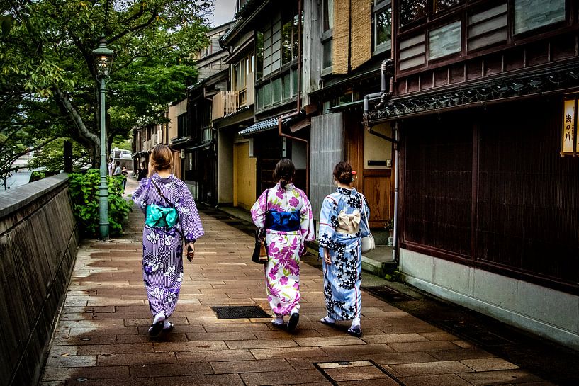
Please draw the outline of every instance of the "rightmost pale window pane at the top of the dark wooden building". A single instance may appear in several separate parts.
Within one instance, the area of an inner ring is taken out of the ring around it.
[[[515,34],[565,20],[565,0],[515,0]]]

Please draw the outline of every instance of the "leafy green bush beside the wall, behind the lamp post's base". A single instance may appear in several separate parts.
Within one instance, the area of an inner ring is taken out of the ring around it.
[[[108,224],[111,236],[123,234],[123,222],[133,203],[123,198],[123,178],[107,176]],[[81,232],[94,237],[99,232],[99,184],[98,169],[89,169],[86,174],[69,174],[69,191],[72,198],[74,217]]]

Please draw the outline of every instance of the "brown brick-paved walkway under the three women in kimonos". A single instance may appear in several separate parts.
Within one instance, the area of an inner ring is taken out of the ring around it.
[[[185,262],[175,328],[157,340],[147,335],[140,212],[124,239],[81,243],[41,385],[400,385],[388,374],[409,386],[551,385],[366,292],[361,339],[347,323],[320,324],[322,276],[305,263],[293,334],[269,318],[217,319],[210,306],[269,312],[264,273],[250,261],[252,237],[201,219],[206,236]]]

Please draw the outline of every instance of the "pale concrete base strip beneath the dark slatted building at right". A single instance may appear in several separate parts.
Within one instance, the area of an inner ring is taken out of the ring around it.
[[[400,249],[400,271],[421,290],[579,350],[579,296]]]

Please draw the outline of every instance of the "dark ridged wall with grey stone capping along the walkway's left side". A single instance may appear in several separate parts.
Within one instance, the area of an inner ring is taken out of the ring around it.
[[[0,386],[38,383],[78,242],[66,175],[0,192]]]

